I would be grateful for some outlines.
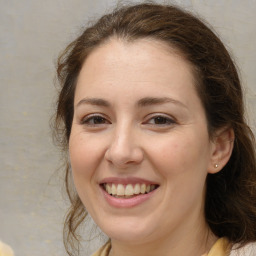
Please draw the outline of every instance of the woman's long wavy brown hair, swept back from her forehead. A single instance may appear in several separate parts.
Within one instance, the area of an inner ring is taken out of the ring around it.
[[[243,93],[237,70],[219,38],[197,17],[178,7],[152,3],[121,7],[86,28],[65,49],[58,60],[61,91],[55,119],[55,131],[63,149],[68,147],[74,91],[81,67],[94,49],[113,37],[127,41],[146,37],[161,40],[191,63],[209,135],[214,136],[218,128],[227,126],[235,134],[229,162],[219,173],[207,177],[206,221],[218,237],[225,236],[241,244],[255,241],[255,141],[244,120]],[[72,186],[67,165],[66,188],[71,208],[65,222],[64,240],[70,255],[73,255],[74,242],[79,241],[77,228],[87,214]]]

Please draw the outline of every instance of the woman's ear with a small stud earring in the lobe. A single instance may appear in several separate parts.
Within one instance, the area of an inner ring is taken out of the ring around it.
[[[208,173],[217,173],[227,164],[233,151],[234,139],[234,130],[229,127],[221,128],[215,133]]]

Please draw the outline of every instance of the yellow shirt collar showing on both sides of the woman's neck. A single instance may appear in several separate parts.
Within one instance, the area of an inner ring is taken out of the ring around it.
[[[101,249],[92,256],[108,256],[111,244],[105,244]],[[213,245],[207,256],[228,256],[230,253],[230,243],[226,238],[219,238]]]

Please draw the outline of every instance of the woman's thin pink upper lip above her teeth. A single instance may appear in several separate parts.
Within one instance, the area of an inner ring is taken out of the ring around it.
[[[122,178],[121,177],[107,177],[107,178],[102,179],[99,183],[100,184],[114,183],[114,184],[123,184],[123,185],[127,185],[127,184],[158,185],[154,181],[150,181],[150,180],[138,178],[138,177],[125,177],[125,178],[123,178],[123,177]]]

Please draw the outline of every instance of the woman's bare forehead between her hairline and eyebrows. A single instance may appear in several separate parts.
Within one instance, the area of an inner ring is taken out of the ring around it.
[[[76,96],[81,91],[100,94],[106,89],[146,94],[161,92],[166,85],[181,95],[195,93],[193,67],[178,50],[149,38],[132,42],[112,38],[85,60]]]

